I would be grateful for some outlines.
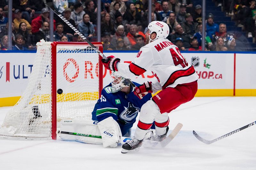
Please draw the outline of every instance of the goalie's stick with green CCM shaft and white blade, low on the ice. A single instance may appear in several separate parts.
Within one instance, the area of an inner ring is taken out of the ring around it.
[[[176,127],[172,130],[170,135],[166,137],[163,141],[161,142],[156,142],[156,141],[150,141],[150,140],[144,140],[143,141],[143,146],[148,147],[148,148],[163,148],[167,144],[169,144],[172,139],[179,133],[180,129],[182,128],[182,124],[178,123]],[[75,132],[66,132],[66,131],[60,131],[62,134],[68,134],[68,135],[75,135],[75,136],[83,136],[83,137],[94,137],[94,138],[101,138],[99,135],[90,135],[90,134],[84,134],[84,133],[75,133]],[[130,137],[121,137],[121,144],[124,144],[127,140],[131,140],[132,138]]]

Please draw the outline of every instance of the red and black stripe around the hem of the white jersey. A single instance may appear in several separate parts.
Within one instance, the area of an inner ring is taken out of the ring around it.
[[[186,77],[194,74],[196,71],[193,66],[189,67],[187,70],[177,70],[174,71],[168,80],[164,83],[163,89],[168,85],[172,85],[178,78]]]

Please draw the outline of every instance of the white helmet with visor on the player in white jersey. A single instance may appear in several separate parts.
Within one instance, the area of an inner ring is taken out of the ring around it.
[[[148,32],[148,34],[156,33],[156,39],[158,38],[166,38],[169,35],[169,26],[162,21],[152,21],[148,24],[148,27],[145,28],[144,34]],[[155,40],[156,40],[155,39]],[[149,36],[149,42],[154,41]]]

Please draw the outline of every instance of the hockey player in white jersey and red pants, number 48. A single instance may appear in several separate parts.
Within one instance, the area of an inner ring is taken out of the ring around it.
[[[125,78],[134,78],[147,70],[152,71],[157,81],[145,82],[136,87],[134,93],[138,97],[162,90],[141,107],[134,137],[122,146],[122,153],[139,148],[154,121],[156,135],[149,140],[162,141],[166,138],[169,129],[168,113],[192,100],[197,91],[198,75],[194,67],[183,58],[179,48],[166,39],[169,34],[168,25],[161,21],[152,21],[145,34],[147,45],[140,48],[131,64],[120,63],[120,59],[114,56],[102,59],[107,69],[118,70]]]

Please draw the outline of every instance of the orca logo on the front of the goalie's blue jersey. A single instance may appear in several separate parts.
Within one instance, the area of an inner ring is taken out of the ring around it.
[[[132,103],[128,103],[128,107],[124,107],[124,111],[120,114],[120,118],[125,122],[132,121],[138,115],[139,107],[134,107]],[[130,122],[127,122],[130,123]]]

